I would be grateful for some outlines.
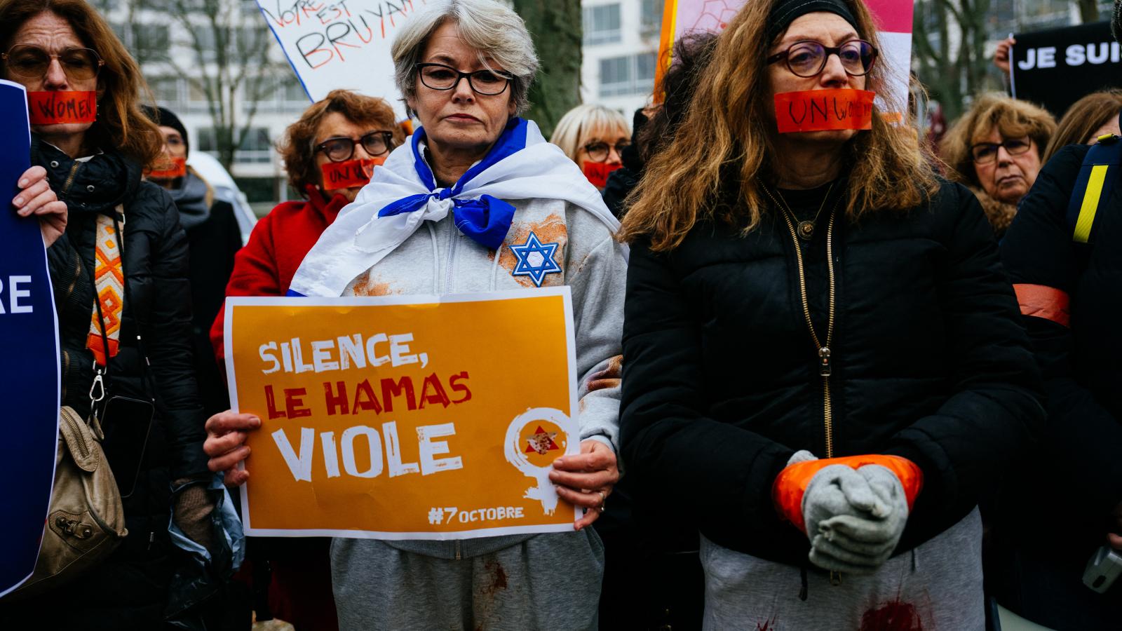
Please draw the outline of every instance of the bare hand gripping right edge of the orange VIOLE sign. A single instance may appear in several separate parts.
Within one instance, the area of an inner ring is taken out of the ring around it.
[[[577,520],[577,530],[591,525],[604,512],[611,487],[619,482],[616,465],[615,452],[598,440],[582,440],[579,455],[553,461],[550,481],[558,485],[558,495],[586,511],[585,516]]]

